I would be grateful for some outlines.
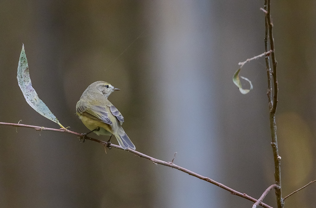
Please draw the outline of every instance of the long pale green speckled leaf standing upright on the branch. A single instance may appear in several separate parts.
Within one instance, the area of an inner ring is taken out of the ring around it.
[[[28,70],[27,59],[24,50],[24,44],[22,46],[22,51],[20,55],[20,60],[18,64],[18,73],[17,77],[19,86],[21,91],[25,97],[27,103],[35,110],[37,113],[40,113],[42,116],[50,119],[60,125],[63,129],[65,127],[61,125],[58,119],[54,116],[54,114],[48,109],[43,101],[39,98],[35,89],[32,87],[31,78]]]

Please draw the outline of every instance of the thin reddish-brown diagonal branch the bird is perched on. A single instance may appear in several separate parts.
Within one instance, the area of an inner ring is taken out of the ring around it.
[[[78,136],[80,138],[83,138],[82,134],[77,133],[77,132],[72,132],[72,131],[70,131],[68,129],[52,129],[52,128],[46,128],[46,127],[41,127],[41,126],[24,125],[24,124],[13,124],[13,123],[4,123],[4,122],[0,122],[0,125],[10,125],[10,126],[16,126],[16,127],[33,128],[36,131],[65,132],[65,133],[74,134],[74,135],[76,135],[76,136]],[[108,144],[107,142],[101,141],[99,139],[94,139],[94,138],[90,138],[90,137],[87,137],[87,136],[85,136],[85,139],[86,140],[91,140],[91,141],[94,141],[94,142],[98,142],[98,143],[100,143],[100,144],[102,144],[104,146],[107,146],[107,147],[114,147],[114,148],[117,148],[117,149],[124,150],[122,147],[120,147],[118,145]],[[175,168],[175,169],[180,170],[180,171],[182,171],[184,173],[187,173],[187,174],[192,175],[194,177],[197,177],[199,179],[205,180],[205,181],[207,181],[207,182],[209,182],[211,184],[214,184],[214,185],[216,185],[216,186],[218,186],[218,187],[220,187],[222,189],[225,189],[226,191],[229,191],[231,194],[234,194],[236,196],[240,196],[240,197],[242,197],[244,199],[248,199],[248,200],[250,200],[252,202],[257,202],[258,201],[257,199],[252,198],[251,196],[248,196],[245,193],[240,193],[238,191],[235,191],[234,189],[229,188],[228,186],[225,186],[225,185],[223,185],[223,184],[221,184],[221,183],[219,183],[219,182],[217,182],[215,180],[212,180],[209,177],[202,176],[202,175],[197,174],[197,173],[195,173],[195,172],[193,172],[191,170],[188,170],[186,168],[182,168],[182,167],[180,167],[178,165],[175,165],[173,162],[165,162],[165,161],[162,161],[162,160],[158,160],[158,159],[155,159],[154,157],[145,155],[145,154],[143,154],[141,152],[132,150],[130,148],[126,149],[126,151],[131,152],[131,153],[133,153],[133,154],[135,154],[135,155],[137,155],[139,157],[143,157],[145,159],[148,159],[148,160],[154,162],[155,164],[160,164],[160,165],[164,165],[164,166],[167,166],[167,167]],[[269,206],[267,204],[264,204],[262,202],[259,205],[262,206],[262,207],[265,207],[265,208],[273,208],[273,207],[271,207],[271,206]]]

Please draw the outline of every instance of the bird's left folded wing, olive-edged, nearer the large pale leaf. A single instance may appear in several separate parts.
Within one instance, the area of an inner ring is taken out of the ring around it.
[[[87,116],[88,118],[100,120],[106,124],[112,124],[111,120],[108,117],[108,112],[104,107],[100,106],[77,106],[76,112]]]

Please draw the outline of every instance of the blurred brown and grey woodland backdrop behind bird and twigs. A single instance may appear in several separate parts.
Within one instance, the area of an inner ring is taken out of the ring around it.
[[[90,83],[109,99],[137,150],[258,198],[274,183],[264,59],[264,1],[0,0],[0,121],[59,128],[25,101],[22,43],[33,87],[64,126]],[[315,1],[272,2],[283,196],[316,179]],[[0,126],[0,207],[251,207],[178,170],[72,135]],[[95,138],[107,140],[108,138]],[[116,143],[115,140],[113,140]],[[316,186],[286,200],[314,207]],[[264,202],[275,206],[274,192]]]

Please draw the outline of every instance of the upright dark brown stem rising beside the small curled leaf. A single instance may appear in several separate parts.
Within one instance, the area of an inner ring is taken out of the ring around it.
[[[273,24],[271,21],[271,0],[264,0],[264,9],[262,9],[265,13],[265,50],[268,51],[268,42],[270,45],[271,52],[271,62],[272,62],[272,78],[273,78],[273,102],[272,102],[272,83],[271,83],[271,69],[269,64],[269,58],[266,57],[266,68],[268,75],[268,100],[269,100],[269,119],[270,119],[270,131],[271,131],[271,146],[273,151],[274,158],[274,178],[276,181],[276,203],[278,208],[284,207],[284,201],[282,199],[282,188],[281,188],[281,157],[279,156],[279,150],[277,146],[277,138],[276,138],[276,107],[277,107],[277,97],[278,97],[278,82],[277,82],[277,74],[276,74],[276,57],[275,57],[275,49],[274,49],[274,39],[272,28]],[[268,41],[269,40],[269,41]]]

